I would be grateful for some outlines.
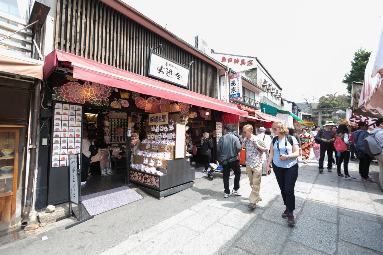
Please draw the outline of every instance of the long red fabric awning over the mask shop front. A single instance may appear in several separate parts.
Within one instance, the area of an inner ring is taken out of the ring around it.
[[[58,61],[73,68],[73,78],[89,82],[97,82],[115,88],[159,96],[172,101],[188,103],[190,105],[222,111],[247,117],[247,112],[237,109],[224,101],[185,90],[165,82],[160,82],[142,75],[101,64],[97,61],[79,57],[65,51],[54,50],[45,57],[44,79],[56,69]]]

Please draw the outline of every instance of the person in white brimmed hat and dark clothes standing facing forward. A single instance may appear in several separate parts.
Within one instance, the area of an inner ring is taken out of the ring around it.
[[[334,131],[332,127],[335,124],[332,121],[326,121],[326,124],[323,125],[324,128],[319,129],[316,134],[315,140],[321,145],[321,157],[319,158],[319,173],[323,173],[323,161],[324,155],[327,151],[327,171],[332,172],[332,154],[334,153]]]

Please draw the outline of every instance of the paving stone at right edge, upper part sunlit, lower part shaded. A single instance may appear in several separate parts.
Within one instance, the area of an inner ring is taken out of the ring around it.
[[[367,204],[346,199],[339,199],[339,213],[357,219],[366,219],[369,221],[380,220],[380,216],[376,214],[372,203]]]

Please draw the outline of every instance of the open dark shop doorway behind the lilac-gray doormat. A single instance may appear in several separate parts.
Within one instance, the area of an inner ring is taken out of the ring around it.
[[[101,160],[88,166],[86,184],[81,195],[125,186],[128,113],[84,107],[83,131],[87,131],[92,155],[101,150]],[[84,153],[84,152],[83,152]],[[106,155],[109,154],[109,160]]]

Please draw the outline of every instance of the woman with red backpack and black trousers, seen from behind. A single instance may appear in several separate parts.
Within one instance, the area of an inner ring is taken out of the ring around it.
[[[344,146],[347,145],[347,147]],[[336,141],[334,143],[334,147],[337,150],[338,154],[338,162],[337,162],[337,170],[338,177],[343,177],[348,180],[356,180],[355,177],[349,175],[349,160],[350,160],[350,152],[351,152],[351,142],[350,142],[350,134],[349,129],[346,124],[340,124],[337,130]],[[345,150],[344,150],[345,149]],[[343,162],[344,175],[340,172],[340,165]]]

